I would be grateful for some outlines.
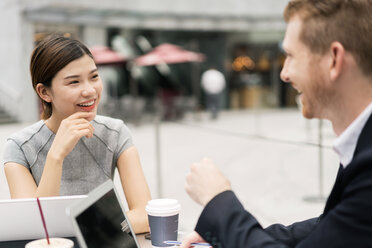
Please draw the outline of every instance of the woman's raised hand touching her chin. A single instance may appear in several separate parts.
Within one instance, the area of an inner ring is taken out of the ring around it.
[[[88,112],[77,112],[64,119],[58,128],[48,156],[59,161],[64,160],[82,137],[93,137],[94,128],[85,119],[90,115]]]

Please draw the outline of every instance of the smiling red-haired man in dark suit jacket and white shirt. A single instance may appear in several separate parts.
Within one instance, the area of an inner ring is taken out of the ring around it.
[[[292,0],[284,18],[283,81],[306,118],[331,121],[340,158],[318,218],[264,229],[211,160],[191,166],[185,188],[204,206],[182,244],[213,247],[372,247],[372,0]],[[223,214],[222,214],[223,213]]]

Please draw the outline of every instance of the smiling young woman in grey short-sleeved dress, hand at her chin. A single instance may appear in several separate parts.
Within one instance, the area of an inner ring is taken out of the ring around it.
[[[121,120],[96,115],[102,81],[88,48],[51,35],[33,51],[30,71],[42,120],[7,140],[11,197],[87,194],[118,168],[134,231],[147,232],[151,196],[138,152]]]

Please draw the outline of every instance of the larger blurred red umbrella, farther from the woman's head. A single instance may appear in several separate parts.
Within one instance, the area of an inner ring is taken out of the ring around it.
[[[164,43],[151,52],[135,59],[136,65],[150,66],[159,64],[176,64],[185,62],[202,62],[204,54],[187,51],[179,46]]]

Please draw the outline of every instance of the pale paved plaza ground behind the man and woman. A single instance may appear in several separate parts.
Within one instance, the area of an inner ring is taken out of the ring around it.
[[[333,185],[338,158],[330,148],[334,135],[323,123],[323,180],[319,180],[318,120],[305,120],[297,109],[222,112],[217,121],[206,113],[189,115],[180,122],[160,126],[163,196],[181,202],[180,229],[192,230],[201,212],[185,193],[184,178],[192,162],[207,156],[232,181],[243,205],[263,226],[290,224],[322,212],[324,202],[304,198],[319,196]],[[0,126],[0,155],[6,137],[28,124]],[[155,127],[153,123],[129,125],[139,149],[152,196],[158,197]],[[116,183],[119,183],[116,178]],[[122,196],[123,197],[123,196]],[[9,198],[3,168],[0,199]],[[221,213],[223,214],[223,213]]]

